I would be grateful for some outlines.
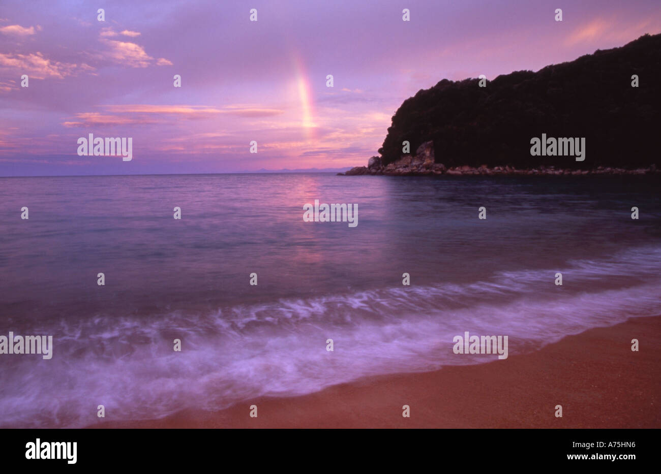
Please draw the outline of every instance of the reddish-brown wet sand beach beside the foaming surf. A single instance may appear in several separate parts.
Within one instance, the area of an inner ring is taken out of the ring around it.
[[[661,428],[660,365],[661,316],[630,318],[505,360],[88,428]],[[405,404],[410,418],[402,417]]]

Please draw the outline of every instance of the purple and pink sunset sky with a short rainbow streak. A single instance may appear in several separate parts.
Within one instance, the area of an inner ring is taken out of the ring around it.
[[[0,176],[362,166],[421,88],[659,32],[658,0],[0,0]]]

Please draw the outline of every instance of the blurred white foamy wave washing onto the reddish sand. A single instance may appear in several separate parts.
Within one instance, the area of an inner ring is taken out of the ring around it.
[[[41,332],[54,335],[52,360],[3,356],[0,425],[87,426],[98,421],[97,405],[106,407],[106,419],[155,419],[365,376],[497,360],[455,355],[453,337],[464,331],[508,335],[509,354],[526,353],[590,327],[661,314],[660,263],[661,249],[648,247],[467,285],[61,321]],[[173,351],[174,339],[181,352]]]

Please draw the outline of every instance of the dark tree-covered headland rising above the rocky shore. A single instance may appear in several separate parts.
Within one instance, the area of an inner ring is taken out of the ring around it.
[[[638,87],[631,85],[632,75],[639,77]],[[537,73],[501,75],[486,87],[479,87],[479,79],[444,79],[397,110],[379,149],[379,166],[414,158],[430,141],[431,159],[447,168],[650,166],[659,160],[660,78],[657,34]],[[530,141],[542,133],[584,138],[584,160],[531,156]],[[403,141],[410,142],[409,155]]]

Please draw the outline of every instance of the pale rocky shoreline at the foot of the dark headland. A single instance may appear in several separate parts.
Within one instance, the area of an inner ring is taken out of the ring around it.
[[[356,166],[346,173],[338,173],[338,176],[362,176],[362,175],[385,175],[385,176],[497,176],[497,175],[583,175],[583,174],[660,174],[661,170],[652,164],[648,168],[614,168],[612,166],[598,166],[592,169],[576,170],[570,168],[558,168],[556,166],[537,166],[536,168],[513,168],[512,166],[494,166],[489,168],[486,164],[482,166],[453,166],[446,168],[444,164],[437,163],[434,158],[434,145],[431,141],[423,143],[416,150],[415,155],[403,155],[395,162],[383,165],[379,156],[372,156],[368,160],[368,166]]]

